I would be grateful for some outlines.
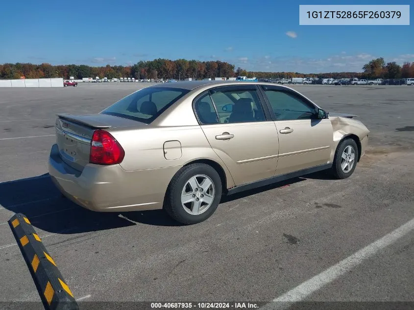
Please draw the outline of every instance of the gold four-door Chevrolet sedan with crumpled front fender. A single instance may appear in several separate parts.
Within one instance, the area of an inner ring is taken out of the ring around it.
[[[273,83],[156,84],[98,114],[58,114],[49,174],[84,208],[164,209],[194,224],[222,195],[321,170],[351,176],[369,133],[354,117]]]

